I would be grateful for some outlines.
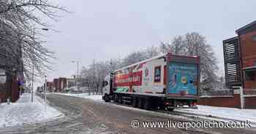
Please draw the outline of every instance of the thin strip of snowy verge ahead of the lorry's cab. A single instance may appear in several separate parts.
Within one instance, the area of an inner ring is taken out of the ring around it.
[[[93,101],[103,101],[102,95],[92,95],[92,94],[89,95],[88,93],[72,94],[72,93],[57,93],[57,92],[55,94],[68,95],[68,96],[74,96],[79,98],[89,98]]]

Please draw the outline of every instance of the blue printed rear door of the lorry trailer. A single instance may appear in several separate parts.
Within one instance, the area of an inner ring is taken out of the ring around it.
[[[198,90],[198,58],[175,57],[167,62],[167,94],[196,96]]]

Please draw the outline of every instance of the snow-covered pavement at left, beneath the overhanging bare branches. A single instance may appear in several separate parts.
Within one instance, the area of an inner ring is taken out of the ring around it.
[[[50,119],[63,117],[60,111],[45,105],[44,101],[34,95],[31,103],[31,94],[24,93],[16,103],[1,103],[0,127],[12,127],[24,124],[47,122]]]

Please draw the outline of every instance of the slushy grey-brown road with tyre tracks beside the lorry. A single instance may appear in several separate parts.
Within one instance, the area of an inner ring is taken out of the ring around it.
[[[126,108],[112,103],[75,98],[67,95],[48,95],[50,105],[65,114],[65,117],[47,123],[28,125],[19,128],[1,129],[0,133],[255,133],[255,128],[132,128],[131,122],[165,121],[191,122],[189,119],[176,115],[154,111]]]

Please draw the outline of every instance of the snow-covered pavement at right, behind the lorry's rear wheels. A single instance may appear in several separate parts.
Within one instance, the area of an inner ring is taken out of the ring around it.
[[[187,114],[199,114],[207,117],[253,122],[256,124],[256,109],[235,109],[217,106],[198,106],[198,109],[176,109]]]

